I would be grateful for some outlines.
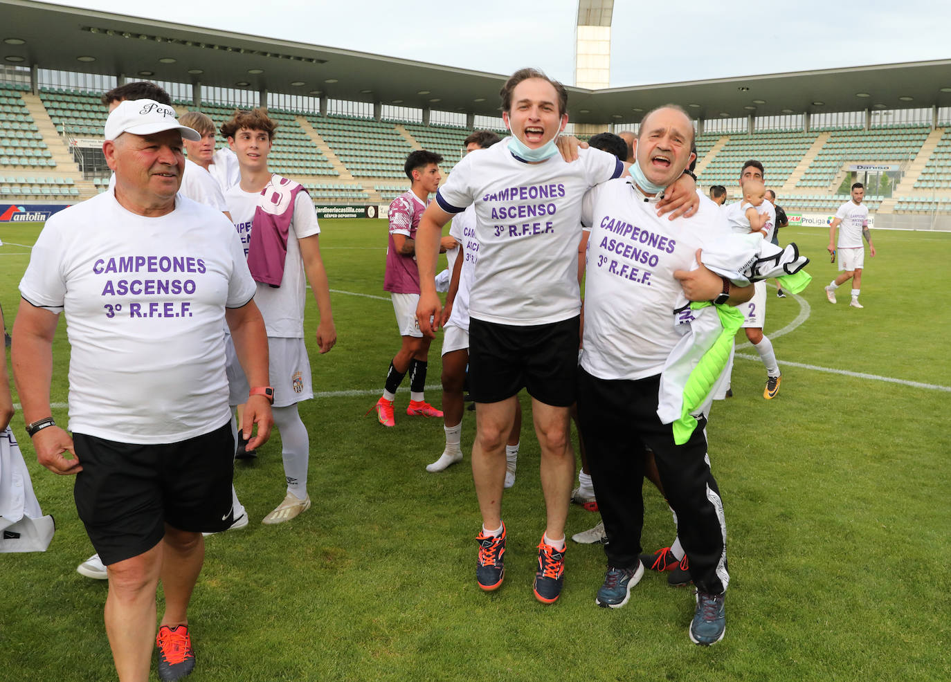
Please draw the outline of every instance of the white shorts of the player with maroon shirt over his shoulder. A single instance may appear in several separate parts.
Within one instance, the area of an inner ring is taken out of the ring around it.
[[[228,376],[228,405],[243,405],[251,389],[238,362],[231,335],[225,337],[224,353]],[[274,387],[274,407],[287,407],[314,397],[311,385],[310,360],[301,338],[267,337],[268,378]]]

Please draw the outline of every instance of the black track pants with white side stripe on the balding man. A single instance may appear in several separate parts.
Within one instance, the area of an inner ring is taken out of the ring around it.
[[[608,534],[605,554],[615,568],[632,568],[644,525],[644,451],[654,453],[690,578],[702,591],[727,589],[727,525],[707,457],[706,422],[675,445],[657,416],[660,376],[634,381],[598,379],[578,369],[578,423],[588,451],[594,494]]]

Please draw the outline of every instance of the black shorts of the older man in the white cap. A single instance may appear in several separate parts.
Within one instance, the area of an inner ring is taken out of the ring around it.
[[[72,434],[83,470],[73,497],[103,563],[131,559],[165,536],[222,531],[231,522],[231,424],[179,443],[140,445]]]

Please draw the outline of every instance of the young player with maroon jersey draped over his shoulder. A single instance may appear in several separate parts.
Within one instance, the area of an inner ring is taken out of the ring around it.
[[[325,353],[337,343],[314,204],[300,184],[274,175],[267,168],[275,128],[277,123],[262,109],[236,112],[222,126],[222,134],[241,164],[241,183],[228,190],[224,199],[257,282],[255,301],[267,327],[274,424],[281,431],[281,457],[287,482],[286,496],[264,517],[265,524],[290,521],[310,508],[310,440],[298,413],[298,403],[314,397],[303,340],[307,281],[320,311],[318,348]],[[228,380],[230,403],[237,406],[247,395],[247,388],[240,368],[230,358]]]

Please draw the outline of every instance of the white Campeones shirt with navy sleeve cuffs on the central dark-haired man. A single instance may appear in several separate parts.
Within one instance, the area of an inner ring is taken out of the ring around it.
[[[527,326],[579,313],[581,199],[624,171],[621,161],[598,149],[581,149],[579,157],[573,163],[559,155],[528,163],[501,142],[466,155],[439,188],[437,202],[447,213],[476,205],[472,317]]]

